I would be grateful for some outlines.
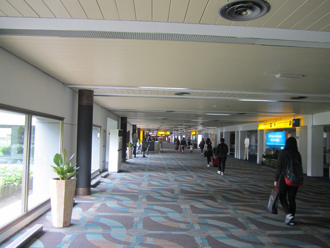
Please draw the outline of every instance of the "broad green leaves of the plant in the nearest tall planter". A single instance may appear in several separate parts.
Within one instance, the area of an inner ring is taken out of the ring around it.
[[[53,168],[54,172],[56,172],[56,174],[59,176],[60,180],[69,180],[71,177],[77,174],[77,170],[79,169],[79,167],[77,167],[77,164],[73,166],[70,162],[74,155],[75,154],[72,154],[68,161],[65,162],[65,157],[67,157],[67,150],[63,149],[61,151],[61,154],[55,154],[53,161],[57,167],[51,167]]]

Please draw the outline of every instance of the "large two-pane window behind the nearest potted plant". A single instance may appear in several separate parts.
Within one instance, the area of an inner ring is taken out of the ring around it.
[[[0,109],[0,226],[50,197],[62,121]]]

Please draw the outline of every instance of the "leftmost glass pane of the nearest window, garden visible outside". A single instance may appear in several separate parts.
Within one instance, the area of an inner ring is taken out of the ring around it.
[[[0,110],[0,226],[24,213],[24,114]]]

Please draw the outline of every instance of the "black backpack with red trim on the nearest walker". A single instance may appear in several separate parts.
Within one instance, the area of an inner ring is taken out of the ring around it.
[[[303,182],[303,170],[299,154],[291,156],[287,152],[288,162],[284,172],[285,182],[290,186],[300,187]]]

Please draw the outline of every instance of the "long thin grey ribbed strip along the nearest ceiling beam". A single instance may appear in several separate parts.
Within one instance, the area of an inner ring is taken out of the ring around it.
[[[326,43],[326,42],[310,42],[303,40],[267,39],[267,38],[240,38],[240,37],[230,37],[230,36],[196,35],[196,34],[109,32],[109,31],[82,31],[82,30],[0,29],[0,35],[169,40],[169,41],[182,41],[182,42],[228,43],[228,44],[243,44],[243,45],[330,49],[330,43]]]

